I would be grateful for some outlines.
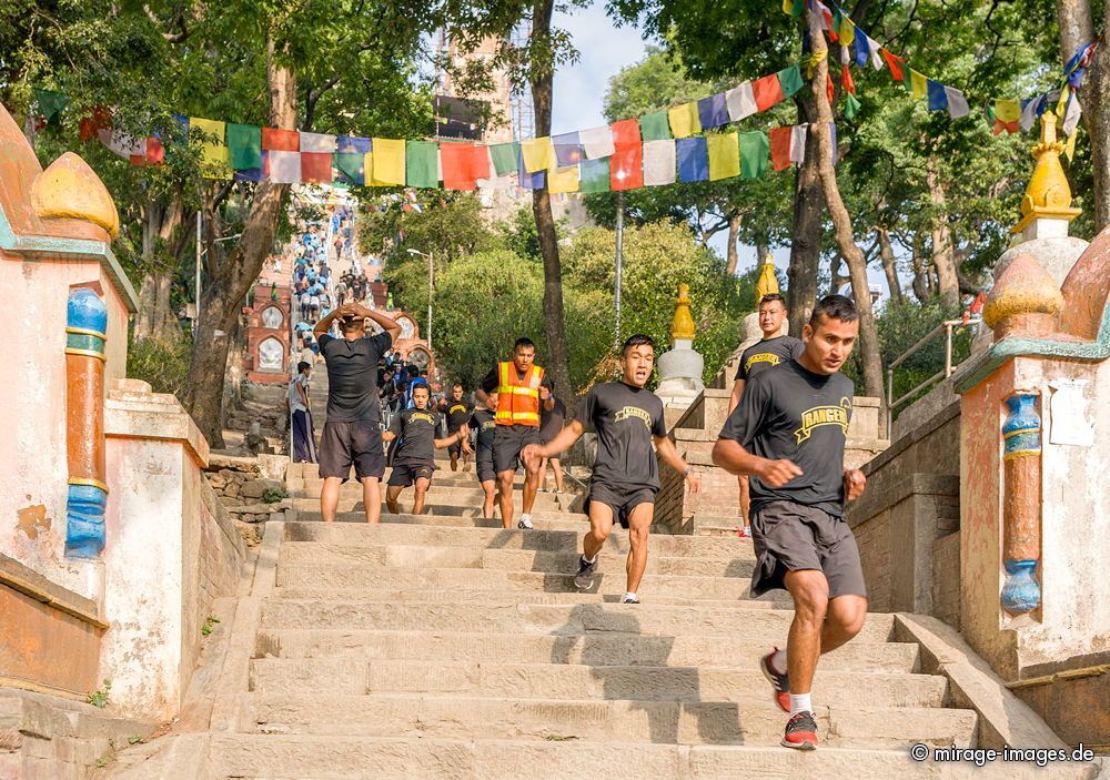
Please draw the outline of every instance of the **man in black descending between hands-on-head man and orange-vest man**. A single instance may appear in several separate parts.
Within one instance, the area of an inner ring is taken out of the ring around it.
[[[385,505],[394,515],[398,514],[397,499],[401,492],[415,484],[416,497],[413,502],[413,514],[424,513],[424,496],[432,485],[432,473],[435,472],[435,450],[450,447],[456,442],[463,443],[463,449],[471,452],[470,430],[464,424],[458,430],[445,438],[436,438],[440,428],[440,413],[427,406],[431,391],[427,385],[413,387],[411,409],[402,409],[393,417],[390,429],[382,438],[392,442],[401,439],[397,454],[393,458],[393,473],[390,474],[389,488],[385,492]]]

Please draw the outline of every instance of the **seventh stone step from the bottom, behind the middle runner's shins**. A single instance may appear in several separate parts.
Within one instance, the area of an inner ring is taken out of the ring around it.
[[[327,545],[316,541],[286,541],[281,547],[278,564],[279,566],[359,564],[396,568],[474,568],[566,574],[577,571],[579,559],[577,545],[565,550],[547,551],[438,545]],[[597,570],[602,574],[623,573],[625,559],[625,555],[615,551],[602,554],[597,558]],[[648,551],[647,573],[697,577],[750,577],[754,564],[755,551],[750,547],[737,549],[735,556],[713,558],[668,556],[663,553],[652,555]]]

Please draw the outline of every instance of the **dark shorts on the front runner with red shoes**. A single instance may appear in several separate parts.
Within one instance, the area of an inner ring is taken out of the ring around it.
[[[867,596],[856,537],[842,517],[794,502],[771,502],[751,513],[751,541],[753,596],[785,589],[786,573],[805,569],[824,573],[829,598]]]

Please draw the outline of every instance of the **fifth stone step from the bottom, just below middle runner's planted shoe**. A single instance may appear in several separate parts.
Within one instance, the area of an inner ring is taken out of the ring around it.
[[[645,609],[645,607],[647,607]],[[577,635],[593,631],[676,636],[727,636],[785,647],[794,612],[787,609],[679,607],[668,605],[411,605],[354,599],[273,597],[262,610],[262,627],[346,628],[425,631],[482,630],[511,634]],[[894,615],[870,612],[854,642],[889,641]]]

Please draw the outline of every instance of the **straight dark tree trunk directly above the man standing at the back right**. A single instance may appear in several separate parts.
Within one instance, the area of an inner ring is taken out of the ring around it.
[[[798,121],[814,122],[817,118],[814,99],[807,90],[798,93]],[[790,229],[790,265],[786,275],[789,285],[786,303],[790,310],[790,333],[801,335],[801,327],[817,305],[817,270],[821,256],[821,195],[817,173],[817,134],[806,138],[806,160],[794,180],[794,224]]]

